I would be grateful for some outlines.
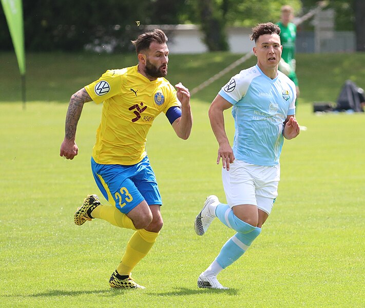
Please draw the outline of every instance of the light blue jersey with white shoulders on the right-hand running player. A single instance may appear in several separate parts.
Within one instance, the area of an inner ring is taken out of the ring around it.
[[[233,105],[235,158],[260,166],[277,165],[283,123],[287,115],[295,114],[295,84],[280,71],[270,79],[255,65],[233,76],[219,95]]]

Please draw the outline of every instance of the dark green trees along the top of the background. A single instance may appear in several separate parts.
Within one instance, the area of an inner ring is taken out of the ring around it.
[[[197,24],[210,51],[228,50],[227,26],[252,27],[277,22],[280,7],[292,5],[304,14],[318,0],[32,0],[23,1],[27,51],[131,51],[130,41],[144,25]],[[365,1],[334,0],[336,30],[355,30],[365,36]],[[313,27],[310,23],[302,27]],[[0,10],[0,50],[12,50],[4,11]],[[168,33],[167,33],[168,34]],[[357,36],[361,36],[358,34]],[[361,38],[361,37],[360,37]],[[365,38],[358,47],[365,50]],[[100,46],[105,46],[101,48]]]

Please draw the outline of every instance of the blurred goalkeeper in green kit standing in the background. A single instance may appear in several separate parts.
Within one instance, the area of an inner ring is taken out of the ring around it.
[[[297,26],[291,23],[292,18],[293,8],[289,5],[282,6],[281,20],[278,22],[281,45],[283,46],[279,70],[294,82],[298,98],[298,78],[295,73],[295,39],[297,35]]]

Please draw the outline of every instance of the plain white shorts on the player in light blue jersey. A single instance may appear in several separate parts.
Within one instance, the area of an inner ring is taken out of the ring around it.
[[[222,182],[230,207],[256,205],[270,215],[280,181],[280,165],[258,166],[235,160],[229,171],[222,168]]]

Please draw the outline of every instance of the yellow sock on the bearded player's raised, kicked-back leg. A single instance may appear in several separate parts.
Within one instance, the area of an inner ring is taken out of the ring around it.
[[[113,205],[99,205],[93,209],[91,216],[104,219],[117,227],[137,230],[132,220]]]

